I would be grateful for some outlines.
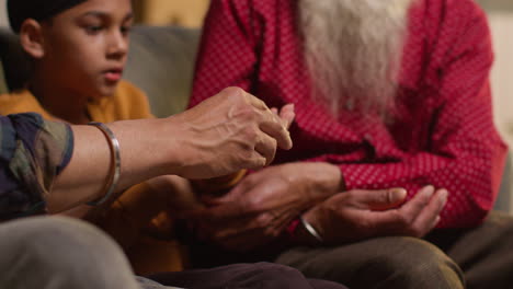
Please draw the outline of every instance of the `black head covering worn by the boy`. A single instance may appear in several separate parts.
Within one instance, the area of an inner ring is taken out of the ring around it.
[[[87,0],[8,0],[9,22],[15,33],[26,19],[44,21]]]

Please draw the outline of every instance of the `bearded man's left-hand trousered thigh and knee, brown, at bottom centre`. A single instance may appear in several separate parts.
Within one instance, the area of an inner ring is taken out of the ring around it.
[[[333,247],[295,247],[276,262],[350,288],[463,288],[458,266],[434,245],[388,236]]]

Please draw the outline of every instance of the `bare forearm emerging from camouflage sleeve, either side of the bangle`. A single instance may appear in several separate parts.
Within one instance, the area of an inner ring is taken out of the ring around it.
[[[119,141],[121,177],[115,192],[162,174],[179,171],[180,153],[173,151],[171,119],[125,120],[109,127]],[[105,194],[113,158],[109,140],[98,128],[73,126],[75,150],[47,197],[50,212],[71,209]],[[174,150],[178,151],[178,150]]]

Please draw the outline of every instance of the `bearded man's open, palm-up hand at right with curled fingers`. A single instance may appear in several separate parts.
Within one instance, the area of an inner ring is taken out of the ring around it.
[[[409,201],[401,188],[350,190],[338,194],[304,215],[327,244],[380,235],[421,238],[440,220],[447,190],[426,186]],[[305,234],[303,234],[305,235]],[[306,243],[311,243],[311,239]]]

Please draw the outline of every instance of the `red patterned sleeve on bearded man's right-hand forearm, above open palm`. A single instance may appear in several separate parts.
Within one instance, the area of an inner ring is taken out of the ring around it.
[[[449,197],[437,227],[461,228],[478,224],[493,205],[505,150],[500,143],[490,148],[483,154],[458,152],[447,158],[420,153],[397,163],[340,166],[349,189],[402,187],[412,198],[425,185],[446,188]]]

